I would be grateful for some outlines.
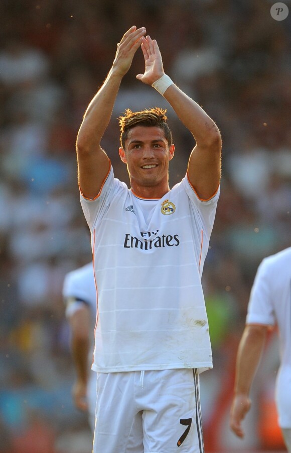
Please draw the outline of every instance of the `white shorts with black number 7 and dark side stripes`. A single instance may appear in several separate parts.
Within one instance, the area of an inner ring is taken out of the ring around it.
[[[197,370],[97,373],[93,453],[203,453]]]

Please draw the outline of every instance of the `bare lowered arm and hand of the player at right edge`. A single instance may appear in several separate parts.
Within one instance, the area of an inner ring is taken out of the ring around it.
[[[247,325],[239,343],[230,413],[230,428],[238,437],[244,437],[241,422],[251,406],[249,392],[260,361],[267,329],[266,325]]]

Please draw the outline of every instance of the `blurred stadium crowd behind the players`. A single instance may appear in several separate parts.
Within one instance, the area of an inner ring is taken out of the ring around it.
[[[0,3],[0,453],[87,453],[86,416],[73,407],[65,274],[90,261],[75,140],[132,25],[160,46],[165,71],[216,121],[221,196],[203,286],[214,370],[201,375],[206,451],[283,450],[273,407],[275,335],[253,386],[245,440],[228,428],[237,344],[261,259],[290,246],[291,24],[268,0],[2,0]],[[289,6],[289,1],[285,1]],[[140,50],[124,77],[102,146],[115,176],[117,117],[166,107]],[[176,154],[171,186],[194,139],[168,108]]]

